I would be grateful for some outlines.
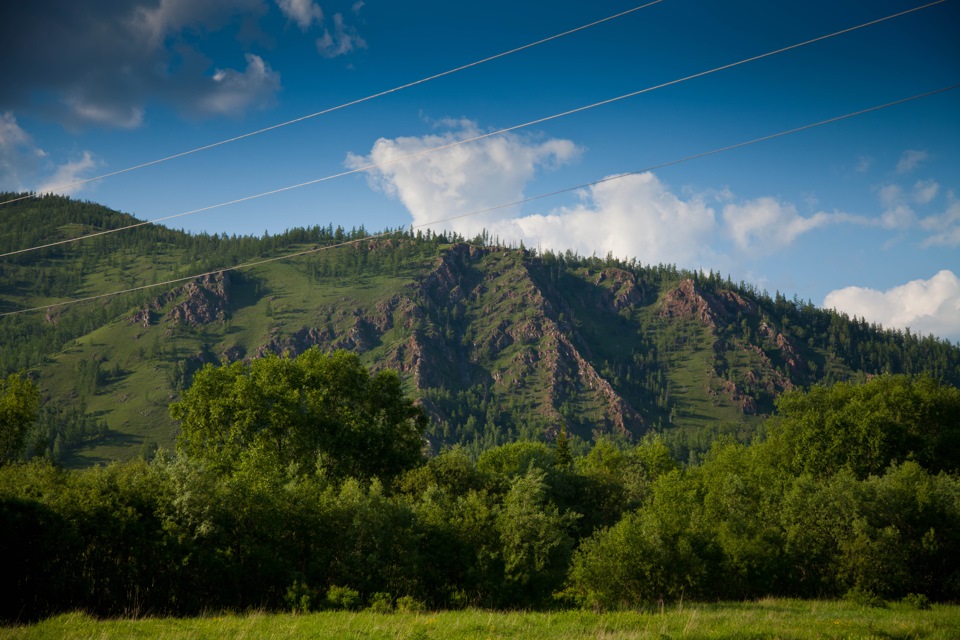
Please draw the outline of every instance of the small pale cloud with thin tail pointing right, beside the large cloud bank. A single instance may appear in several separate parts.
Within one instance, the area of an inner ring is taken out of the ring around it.
[[[845,213],[820,211],[809,217],[797,213],[795,205],[764,197],[723,208],[727,233],[737,246],[750,252],[773,252],[787,247],[808,231],[828,224],[866,221]]]

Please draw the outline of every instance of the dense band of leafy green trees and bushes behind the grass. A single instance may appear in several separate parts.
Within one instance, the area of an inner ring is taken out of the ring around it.
[[[4,434],[31,384],[5,383]],[[565,430],[427,455],[395,373],[315,348],[207,365],[171,412],[151,462],[7,455],[3,619],[960,597],[960,390],[930,376],[788,392],[696,464]]]

